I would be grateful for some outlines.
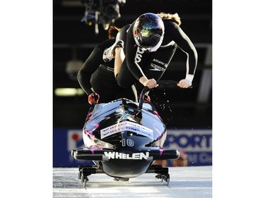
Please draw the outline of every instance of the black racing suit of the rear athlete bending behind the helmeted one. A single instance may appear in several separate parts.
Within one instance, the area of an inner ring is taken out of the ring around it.
[[[78,82],[86,94],[89,95],[93,91],[99,94],[100,103],[119,98],[137,101],[134,87],[122,88],[117,84],[114,78],[114,59],[108,63],[102,59],[104,49],[112,46],[114,42],[115,39],[107,39],[95,47],[78,72]]]

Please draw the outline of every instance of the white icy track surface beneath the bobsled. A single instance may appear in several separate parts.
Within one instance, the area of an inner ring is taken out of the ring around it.
[[[117,182],[105,174],[88,177],[86,188],[78,181],[78,168],[53,168],[53,197],[212,197],[212,166],[170,167],[170,183],[155,173]]]

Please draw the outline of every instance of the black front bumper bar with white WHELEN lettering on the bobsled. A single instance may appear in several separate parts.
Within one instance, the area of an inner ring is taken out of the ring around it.
[[[112,159],[126,160],[146,160],[154,161],[161,159],[178,159],[179,151],[177,149],[141,149],[136,152],[119,152],[99,149],[77,149],[72,150],[71,155],[75,159],[110,161]]]

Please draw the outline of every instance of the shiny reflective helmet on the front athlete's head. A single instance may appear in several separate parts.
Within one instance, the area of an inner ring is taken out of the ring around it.
[[[163,20],[154,13],[144,13],[134,23],[134,40],[146,51],[156,51],[163,42],[165,27]]]

